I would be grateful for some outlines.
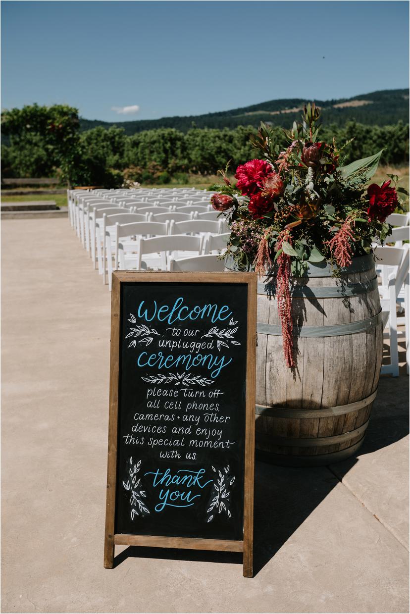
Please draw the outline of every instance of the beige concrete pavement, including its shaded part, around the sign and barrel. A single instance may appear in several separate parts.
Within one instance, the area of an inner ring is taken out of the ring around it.
[[[408,612],[408,378],[360,456],[258,463],[238,554],[117,548],[103,568],[110,295],[68,219],[2,222],[2,612]]]

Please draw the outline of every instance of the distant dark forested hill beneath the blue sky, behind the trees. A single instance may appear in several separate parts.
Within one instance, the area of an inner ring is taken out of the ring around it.
[[[142,130],[155,128],[176,128],[186,132],[196,128],[236,128],[236,126],[258,126],[261,121],[274,126],[290,127],[300,121],[301,109],[307,101],[302,98],[270,100],[266,103],[253,104],[249,107],[220,111],[206,115],[189,115],[188,117],[163,117],[155,120],[136,120],[133,122],[100,122],[99,120],[81,119],[81,130],[90,130],[96,126],[117,125],[124,128],[126,134],[135,134]],[[399,120],[409,121],[409,90],[382,90],[369,94],[341,98],[338,100],[315,100],[322,107],[323,124],[344,125],[349,120],[367,125],[385,126]]]

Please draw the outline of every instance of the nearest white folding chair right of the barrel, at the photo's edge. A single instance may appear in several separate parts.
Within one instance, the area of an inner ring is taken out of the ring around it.
[[[409,246],[374,248],[374,255],[380,266],[389,266],[392,272],[389,274],[387,286],[379,286],[380,302],[382,306],[383,330],[387,327],[384,336],[390,338],[390,364],[382,365],[381,373],[391,373],[393,377],[399,375],[398,371],[398,317],[397,302],[400,293],[403,293],[405,310],[404,336],[406,343],[406,364],[409,372]],[[403,335],[401,335],[403,336]]]

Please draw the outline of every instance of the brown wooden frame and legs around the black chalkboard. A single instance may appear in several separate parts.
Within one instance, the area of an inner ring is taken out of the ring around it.
[[[246,419],[244,450],[244,523],[243,540],[218,540],[191,537],[161,537],[157,535],[115,534],[115,493],[117,481],[118,385],[120,352],[120,297],[123,282],[203,282],[212,284],[247,284],[247,357],[246,357]],[[115,271],[112,274],[110,398],[107,461],[106,528],[104,567],[114,566],[115,545],[155,546],[160,548],[191,548],[243,553],[243,575],[253,575],[253,484],[255,470],[255,378],[256,378],[256,273],[163,273],[145,271]]]

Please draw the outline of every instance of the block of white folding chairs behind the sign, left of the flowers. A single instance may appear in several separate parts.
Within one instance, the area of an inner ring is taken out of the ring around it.
[[[229,233],[210,198],[199,190],[172,195],[142,189],[71,190],[69,218],[109,287],[114,269],[223,271],[218,255]]]

